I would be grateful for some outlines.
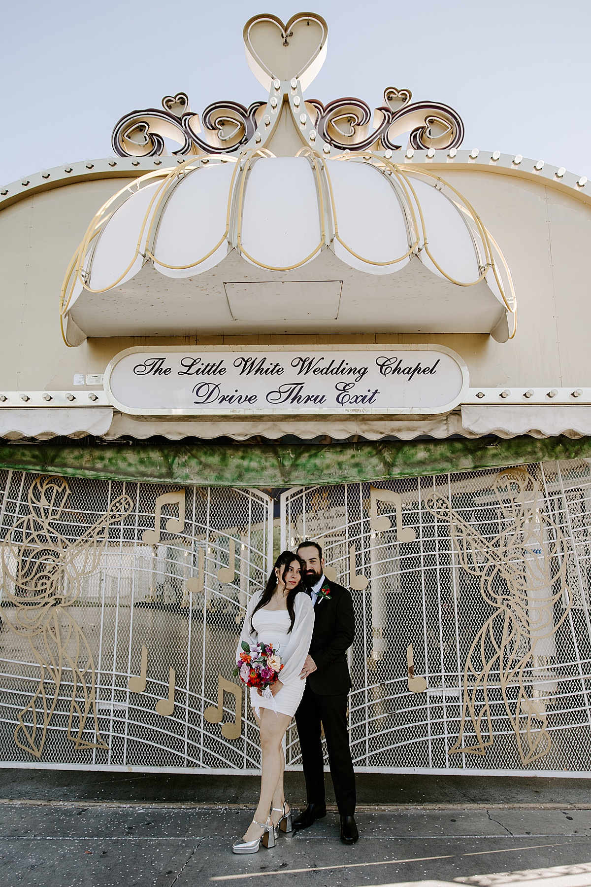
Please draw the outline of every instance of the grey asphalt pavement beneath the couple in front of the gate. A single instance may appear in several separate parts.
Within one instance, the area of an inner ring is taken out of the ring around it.
[[[300,774],[287,781],[299,802]],[[252,817],[256,782],[0,771],[0,885],[591,885],[587,780],[382,774],[378,791],[361,776],[358,844],[340,843],[331,809],[312,828],[282,835],[272,850],[235,856],[231,843]],[[400,797],[392,797],[395,789]],[[368,799],[386,792],[388,801]]]

